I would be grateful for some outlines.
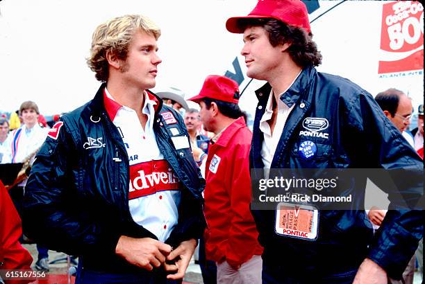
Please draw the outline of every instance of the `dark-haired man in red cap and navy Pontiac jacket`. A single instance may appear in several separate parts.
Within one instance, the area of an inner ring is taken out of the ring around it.
[[[251,178],[272,181],[263,172],[274,168],[301,172],[301,177],[306,170],[295,169],[416,170],[410,186],[383,188],[390,206],[406,210],[389,211],[374,237],[362,203],[365,178],[338,181],[338,197],[354,196],[347,210],[318,210],[326,208],[318,202],[300,207],[297,201],[269,202],[268,210],[253,210],[264,247],[263,283],[387,283],[387,274],[399,279],[422,238],[422,214],[410,206],[396,207],[402,201],[397,193],[403,190],[415,202],[423,196],[423,165],[417,154],[367,91],[316,71],[322,55],[303,2],[258,1],[248,16],[228,19],[226,28],[243,33],[247,76],[267,81],[256,91],[249,157],[251,168],[259,171],[251,171]],[[260,189],[253,188],[252,206],[261,203],[256,199]]]

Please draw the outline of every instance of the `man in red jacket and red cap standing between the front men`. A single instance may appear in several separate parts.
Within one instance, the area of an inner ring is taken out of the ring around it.
[[[217,283],[261,283],[263,247],[249,210],[252,133],[239,102],[238,83],[211,75],[198,96],[201,121],[215,136],[206,160],[206,258],[217,263]]]

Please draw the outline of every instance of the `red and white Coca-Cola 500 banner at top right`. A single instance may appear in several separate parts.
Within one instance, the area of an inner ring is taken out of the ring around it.
[[[418,1],[383,4],[378,74],[424,69],[424,6]]]

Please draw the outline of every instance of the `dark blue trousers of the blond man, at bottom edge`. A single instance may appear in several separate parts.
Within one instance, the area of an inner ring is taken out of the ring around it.
[[[101,260],[99,260],[101,261]],[[94,270],[83,268],[83,261],[78,260],[78,268],[76,273],[76,284],[178,284],[181,281],[167,280],[167,274],[162,269],[156,269],[149,272],[140,268],[138,273],[108,273],[97,272]]]

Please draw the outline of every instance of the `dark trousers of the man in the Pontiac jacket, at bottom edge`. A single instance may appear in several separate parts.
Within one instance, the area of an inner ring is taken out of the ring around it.
[[[356,277],[357,269],[341,274],[331,276],[308,275],[307,272],[299,272],[296,275],[293,272],[285,271],[284,267],[269,267],[263,263],[263,284],[352,284]]]

